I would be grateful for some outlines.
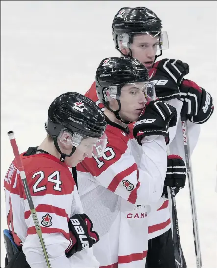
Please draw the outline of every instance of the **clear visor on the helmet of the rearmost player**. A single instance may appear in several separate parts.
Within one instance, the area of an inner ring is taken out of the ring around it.
[[[134,39],[133,39],[134,38]],[[125,48],[132,48],[132,42],[135,41],[138,46],[147,48],[154,46],[156,50],[168,49],[168,35],[167,32],[132,32],[122,34],[122,45]]]

